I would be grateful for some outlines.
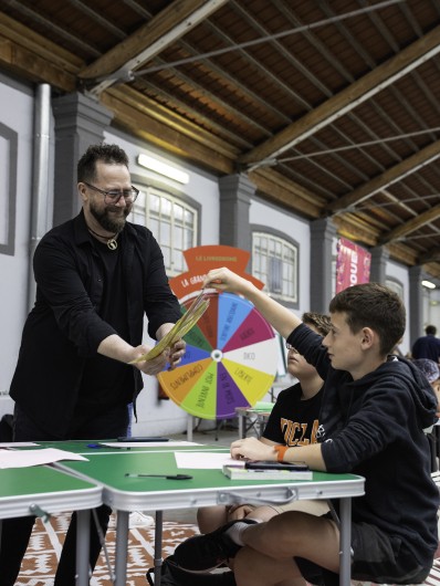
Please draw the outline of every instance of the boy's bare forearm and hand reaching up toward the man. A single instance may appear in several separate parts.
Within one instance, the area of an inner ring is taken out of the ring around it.
[[[254,304],[263,317],[284,338],[287,338],[293,329],[302,323],[290,310],[280,305],[280,303],[256,289],[253,283],[239,276],[229,269],[223,268],[209,271],[203,281],[203,287],[243,295]]]

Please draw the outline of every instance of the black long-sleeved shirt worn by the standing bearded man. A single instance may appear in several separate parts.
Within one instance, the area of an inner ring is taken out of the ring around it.
[[[138,346],[145,315],[148,334],[155,338],[164,323],[180,317],[180,308],[151,232],[127,222],[118,244],[127,296],[121,307],[126,312],[126,341]],[[43,237],[33,269],[36,301],[24,324],[10,395],[43,429],[63,438],[75,410],[86,362],[96,356],[104,338],[119,334],[99,315],[104,268],[83,212]],[[129,368],[136,396],[143,379],[137,368]]]

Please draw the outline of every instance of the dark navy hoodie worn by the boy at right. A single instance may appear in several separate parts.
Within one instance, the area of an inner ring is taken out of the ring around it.
[[[397,356],[353,380],[332,367],[322,339],[304,324],[289,336],[325,380],[319,441],[326,469],[366,479],[365,496],[352,501],[354,522],[400,538],[429,564],[438,545],[439,491],[423,430],[436,421],[434,393],[412,363]]]

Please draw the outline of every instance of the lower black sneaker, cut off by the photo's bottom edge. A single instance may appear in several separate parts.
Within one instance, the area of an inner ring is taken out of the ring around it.
[[[155,585],[155,569],[147,572],[147,580]],[[160,586],[237,586],[233,572],[219,572],[217,574],[193,574],[179,567],[170,555],[161,565]]]

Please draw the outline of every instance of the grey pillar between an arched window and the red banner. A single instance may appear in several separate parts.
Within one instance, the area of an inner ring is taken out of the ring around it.
[[[332,299],[333,239],[336,227],[329,218],[311,224],[311,311],[327,313]]]

